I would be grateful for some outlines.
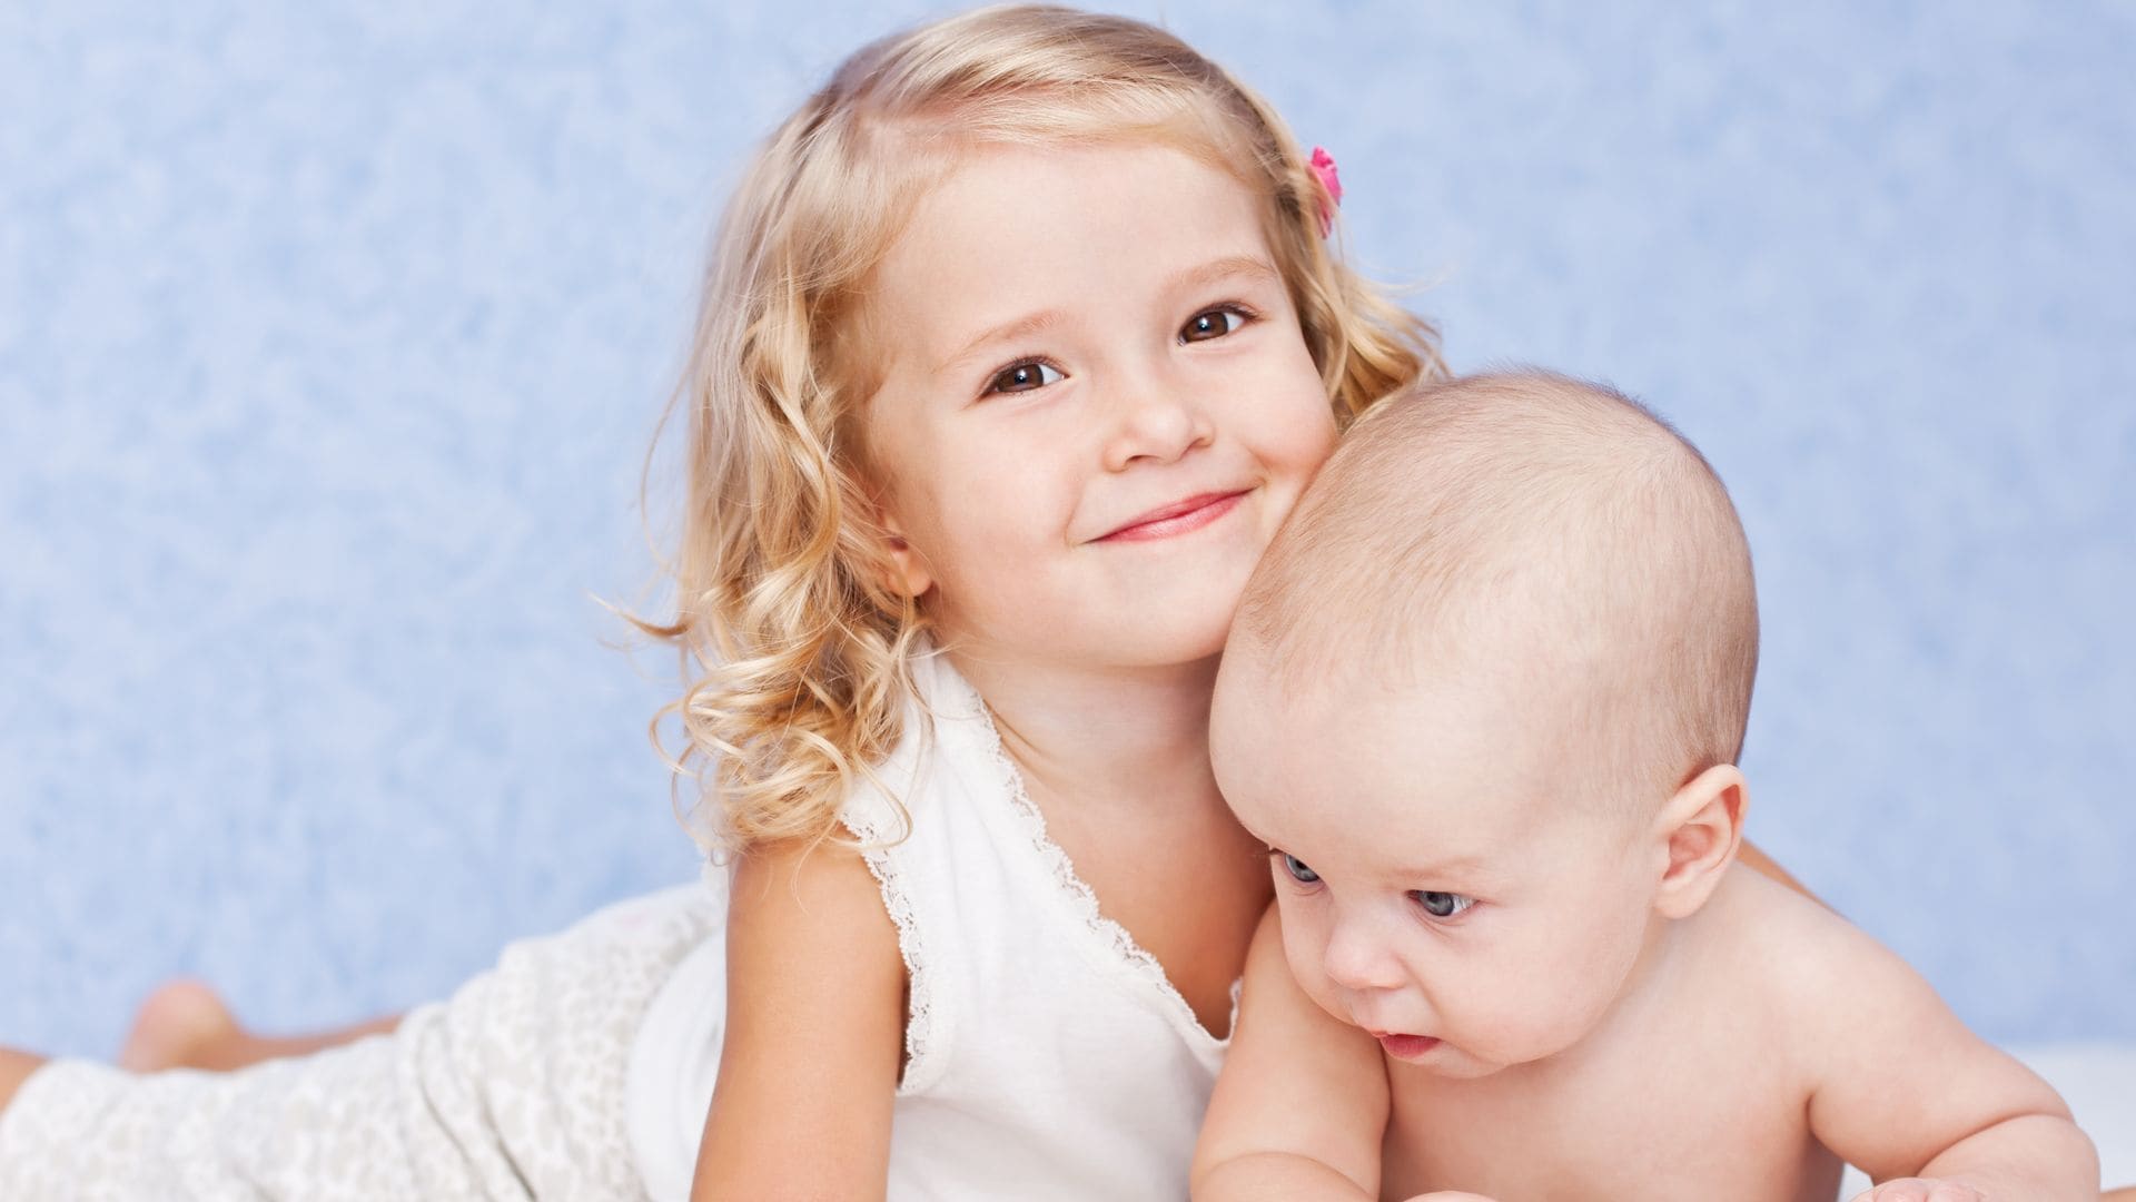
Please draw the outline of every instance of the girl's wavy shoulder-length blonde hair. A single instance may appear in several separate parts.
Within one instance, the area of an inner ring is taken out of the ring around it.
[[[1269,250],[1337,421],[1438,379],[1435,332],[1335,259],[1320,180],[1277,115],[1179,38],[1126,17],[1000,6],[863,47],[754,156],[713,240],[675,404],[688,509],[673,560],[686,734],[711,815],[748,849],[833,836],[901,736],[925,607],[891,580],[869,505],[876,265],[916,201],[978,145],[1151,139],[1262,197]],[[709,821],[707,821],[709,819]]]

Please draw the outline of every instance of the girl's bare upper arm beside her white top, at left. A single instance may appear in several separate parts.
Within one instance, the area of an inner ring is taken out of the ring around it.
[[[690,1198],[882,1198],[906,965],[859,851],[752,851],[726,918],[726,1037]]]

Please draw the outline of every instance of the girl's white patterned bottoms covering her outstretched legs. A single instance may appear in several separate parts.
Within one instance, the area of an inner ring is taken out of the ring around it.
[[[393,1035],[239,1074],[51,1063],[0,1112],[0,1200],[641,1198],[632,1039],[716,918],[694,885],[626,900]]]

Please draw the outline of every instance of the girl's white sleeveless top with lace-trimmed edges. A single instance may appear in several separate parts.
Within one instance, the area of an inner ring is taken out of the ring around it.
[[[910,973],[889,1198],[1185,1198],[1224,1039],[1098,913],[978,693],[940,654],[914,678],[933,721],[908,712],[880,783],[842,811],[878,845],[865,858]],[[724,870],[707,883],[724,898]],[[656,1200],[690,1193],[724,967],[724,937],[696,947],[632,1050],[630,1138]]]

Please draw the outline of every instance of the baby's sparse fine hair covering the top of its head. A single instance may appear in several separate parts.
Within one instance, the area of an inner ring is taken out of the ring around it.
[[[1598,791],[1653,800],[1741,755],[1758,597],[1728,490],[1675,428],[1506,372],[1352,428],[1254,571],[1241,648],[1273,684],[1510,682],[1598,736],[1623,787]]]

